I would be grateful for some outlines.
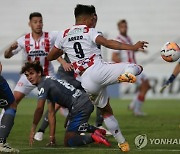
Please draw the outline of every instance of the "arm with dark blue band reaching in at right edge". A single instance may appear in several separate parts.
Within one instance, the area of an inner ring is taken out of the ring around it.
[[[178,63],[175,68],[173,73],[171,74],[171,76],[169,77],[169,79],[163,84],[162,88],[160,89],[160,93],[163,93],[163,91],[173,83],[173,81],[175,80],[176,76],[179,74],[180,72],[180,63]]]

